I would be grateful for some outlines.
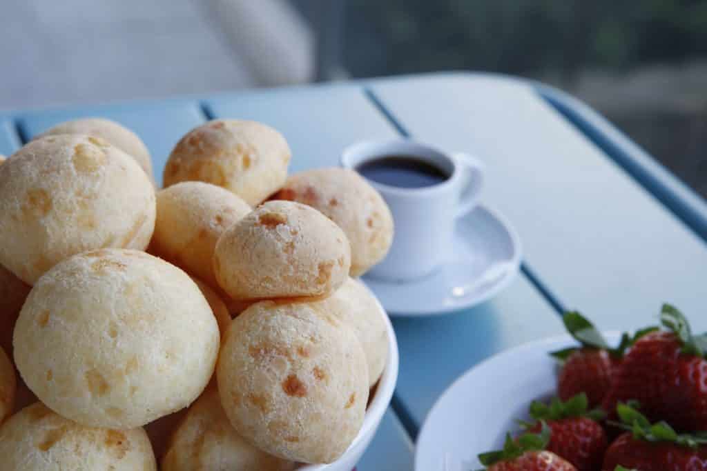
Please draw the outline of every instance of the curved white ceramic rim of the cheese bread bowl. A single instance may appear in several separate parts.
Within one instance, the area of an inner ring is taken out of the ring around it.
[[[368,290],[368,286],[366,286],[366,290]],[[370,290],[369,292],[373,297],[375,297],[373,292]],[[380,313],[385,319],[385,328],[388,334],[388,358],[385,362],[383,374],[380,376],[380,380],[378,381],[378,388],[375,390],[373,400],[370,402],[370,405],[366,410],[366,417],[363,418],[361,430],[358,431],[358,435],[356,435],[354,441],[351,442],[349,449],[341,455],[341,458],[334,461],[334,463],[329,463],[328,465],[303,465],[298,467],[296,471],[338,470],[339,468],[337,467],[337,463],[347,460],[349,455],[356,453],[358,443],[375,434],[375,431],[378,429],[378,424],[380,424],[380,420],[390,404],[393,391],[395,390],[395,384],[397,383],[399,366],[397,338],[395,337],[395,330],[393,330],[392,323],[390,323],[390,317],[386,314],[385,309],[383,309],[383,306],[380,304],[377,297],[375,297],[375,302],[378,304]]]

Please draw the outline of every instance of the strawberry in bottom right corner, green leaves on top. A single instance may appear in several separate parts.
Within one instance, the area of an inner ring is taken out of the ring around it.
[[[707,434],[677,434],[667,422],[650,424],[630,405],[619,403],[617,412],[626,433],[609,446],[604,471],[630,467],[641,471],[707,470]]]

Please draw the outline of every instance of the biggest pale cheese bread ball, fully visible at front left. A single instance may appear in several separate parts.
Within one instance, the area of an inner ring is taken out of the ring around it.
[[[103,249],[40,278],[13,345],[25,383],[52,410],[90,427],[131,429],[201,394],[219,336],[189,275],[144,252]]]

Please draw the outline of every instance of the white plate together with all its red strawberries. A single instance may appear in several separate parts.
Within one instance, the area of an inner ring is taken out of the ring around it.
[[[707,335],[665,304],[660,325],[568,335],[467,371],[423,425],[417,471],[707,470]]]

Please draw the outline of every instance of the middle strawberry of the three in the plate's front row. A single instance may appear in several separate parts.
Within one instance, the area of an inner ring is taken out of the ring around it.
[[[528,431],[539,432],[545,423],[550,428],[547,451],[568,460],[578,471],[595,471],[602,465],[609,443],[606,432],[596,421],[604,417],[604,412],[588,410],[585,393],[564,403],[557,398],[549,405],[534,401],[530,405],[530,416],[538,422],[521,422]]]

